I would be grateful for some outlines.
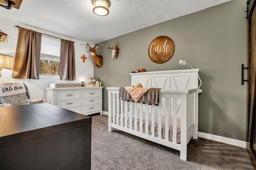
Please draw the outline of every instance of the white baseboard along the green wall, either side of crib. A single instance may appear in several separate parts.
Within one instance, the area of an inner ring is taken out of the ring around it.
[[[108,111],[102,111],[102,113],[104,115],[108,115]],[[198,137],[201,137],[204,139],[209,139],[209,140],[216,141],[216,142],[226,143],[228,145],[234,145],[234,146],[241,147],[241,148],[246,148],[246,141],[239,141],[236,139],[212,135],[212,134],[203,133],[203,132],[198,132]]]

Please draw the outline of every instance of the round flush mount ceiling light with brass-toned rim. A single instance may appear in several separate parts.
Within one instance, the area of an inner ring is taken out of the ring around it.
[[[93,12],[98,16],[106,16],[109,13],[108,8],[110,7],[109,0],[92,0],[94,6]]]

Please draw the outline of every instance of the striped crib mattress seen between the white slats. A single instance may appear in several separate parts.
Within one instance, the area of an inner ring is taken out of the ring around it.
[[[134,111],[132,112],[132,129],[134,130]],[[121,115],[119,117],[118,125],[121,125]],[[128,124],[127,127],[130,129],[130,113],[127,114]],[[165,139],[165,116],[162,115],[162,139]],[[115,117],[115,124],[117,122],[117,116]],[[169,141],[172,141],[172,117],[169,117]],[[123,113],[123,127],[125,127],[125,113]],[[152,116],[151,113],[148,113],[148,134],[152,135],[151,128],[152,127]],[[140,113],[137,113],[137,131],[140,131]],[[146,112],[142,113],[142,132],[146,133]],[[158,137],[158,115],[155,115],[155,137]],[[177,141],[176,143],[180,143],[180,118],[177,118]]]

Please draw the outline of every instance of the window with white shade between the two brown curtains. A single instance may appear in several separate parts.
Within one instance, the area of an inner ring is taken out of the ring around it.
[[[39,67],[40,74],[59,75],[60,44],[60,39],[42,35]]]

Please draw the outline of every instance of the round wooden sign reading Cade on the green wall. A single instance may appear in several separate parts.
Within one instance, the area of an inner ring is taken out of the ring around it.
[[[174,42],[166,36],[156,37],[148,47],[148,57],[154,63],[165,63],[174,53]]]

